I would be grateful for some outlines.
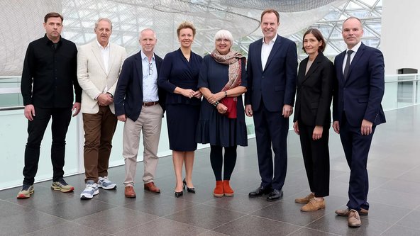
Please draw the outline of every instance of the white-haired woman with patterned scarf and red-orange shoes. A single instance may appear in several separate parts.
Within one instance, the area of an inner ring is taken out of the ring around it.
[[[247,86],[245,57],[231,50],[233,37],[228,30],[219,30],[214,41],[216,49],[204,57],[200,68],[198,86],[205,99],[196,140],[210,143],[211,168],[216,177],[213,195],[233,196],[229,182],[236,164],[236,147],[248,145],[242,101]]]

